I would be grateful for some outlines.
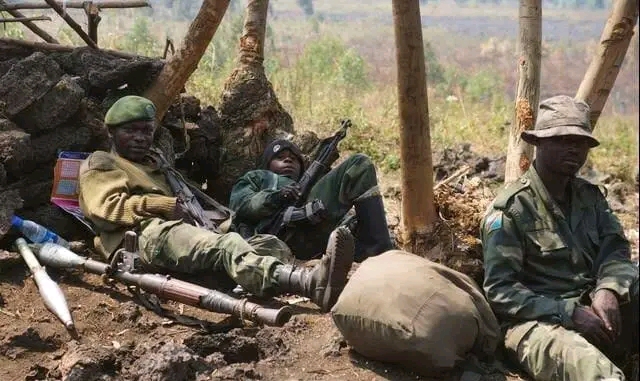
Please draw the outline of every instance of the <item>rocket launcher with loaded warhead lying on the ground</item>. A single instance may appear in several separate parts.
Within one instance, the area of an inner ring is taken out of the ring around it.
[[[127,232],[124,248],[118,250],[110,264],[84,258],[69,249],[53,243],[38,245],[36,255],[42,263],[58,268],[79,268],[106,278],[115,279],[128,286],[138,287],[160,298],[174,300],[190,306],[217,313],[230,314],[266,325],[280,327],[291,318],[291,310],[266,308],[246,299],[236,299],[223,292],[173,279],[168,275],[135,273],[138,266],[136,233]]]

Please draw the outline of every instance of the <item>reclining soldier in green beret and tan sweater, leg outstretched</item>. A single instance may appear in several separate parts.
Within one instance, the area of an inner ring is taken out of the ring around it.
[[[187,274],[224,269],[253,294],[296,293],[328,311],[353,261],[348,229],[336,229],[320,263],[304,269],[283,262],[291,252],[274,236],[245,241],[237,233],[193,226],[184,200],[167,181],[168,171],[175,170],[163,165],[166,161],[152,149],[155,111],[154,104],[142,97],[116,101],[104,121],[112,151],[96,151],[82,164],[80,207],[98,233],[96,248],[109,258],[122,245],[124,233],[134,230],[141,261],[148,266]]]

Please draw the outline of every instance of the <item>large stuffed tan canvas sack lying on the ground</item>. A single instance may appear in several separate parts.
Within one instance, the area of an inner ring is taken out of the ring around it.
[[[331,310],[361,355],[439,376],[492,356],[500,327],[468,276],[404,251],[365,260]]]

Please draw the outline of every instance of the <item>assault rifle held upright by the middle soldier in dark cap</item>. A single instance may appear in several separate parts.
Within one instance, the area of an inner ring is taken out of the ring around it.
[[[300,185],[300,197],[296,204],[293,206],[284,206],[280,211],[278,211],[271,222],[262,229],[261,233],[278,235],[282,232],[284,227],[287,225],[287,219],[285,216],[291,216],[294,209],[300,208],[305,204],[307,196],[309,196],[309,192],[311,192],[311,188],[313,188],[316,182],[318,182],[318,180],[326,173],[327,169],[331,167],[331,164],[333,164],[337,159],[338,143],[347,136],[347,128],[349,127],[351,127],[351,120],[344,119],[340,122],[340,130],[328,139],[328,143],[320,149],[316,157],[313,159],[313,162],[298,182]]]

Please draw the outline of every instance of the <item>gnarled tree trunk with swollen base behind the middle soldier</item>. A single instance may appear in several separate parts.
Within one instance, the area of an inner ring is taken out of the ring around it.
[[[293,119],[278,101],[262,65],[268,9],[269,0],[248,1],[238,65],[220,97],[220,170],[218,178],[207,183],[218,200],[229,199],[235,180],[255,169],[271,140],[293,132]]]

